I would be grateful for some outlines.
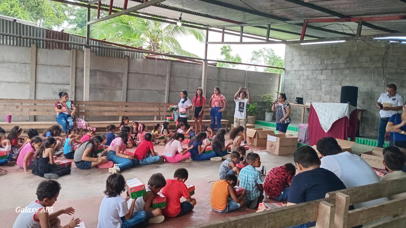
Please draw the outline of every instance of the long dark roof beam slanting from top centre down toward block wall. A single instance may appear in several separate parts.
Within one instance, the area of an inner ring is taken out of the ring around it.
[[[219,1],[217,1],[217,0],[200,0],[200,1],[202,1],[202,2],[207,2],[207,3],[210,3],[210,4],[214,4],[214,5],[218,5],[218,6],[222,6],[222,7],[229,8],[229,9],[234,9],[234,10],[241,11],[241,12],[245,12],[245,13],[249,13],[249,14],[253,14],[253,15],[257,15],[257,16],[261,16],[261,17],[266,17],[266,18],[270,18],[270,19],[275,19],[275,20],[278,20],[278,21],[289,21],[289,19],[287,19],[287,18],[278,17],[278,16],[266,14],[266,13],[261,13],[261,12],[259,12],[259,11],[254,11],[254,10],[251,10],[251,9],[246,9],[246,8],[243,8],[243,7],[240,7],[240,6],[235,6],[235,5],[227,4],[227,3],[224,3],[224,2],[219,2]],[[303,26],[303,23],[300,23],[300,24],[298,23],[298,24],[294,24],[294,25],[296,25],[296,26]],[[265,28],[266,28],[266,27],[265,27]],[[349,37],[355,36],[355,34],[346,33],[346,32],[339,32],[339,31],[336,31],[336,30],[330,30],[330,29],[326,29],[326,28],[319,28],[319,27],[316,27],[316,26],[309,26],[309,25],[307,25],[307,28],[311,28],[311,29],[314,29],[314,30],[320,30],[320,31],[323,31],[323,32],[330,32],[330,33],[340,34],[340,35],[349,36]],[[273,29],[272,29],[272,30],[273,30]],[[285,31],[285,30],[281,30],[281,31],[283,31],[283,32],[285,32],[285,33],[289,33],[288,31]],[[292,33],[291,33],[291,34],[292,34]],[[295,35],[300,36],[300,33],[296,33],[296,32],[295,32]],[[306,37],[311,37],[311,36],[306,35]],[[314,38],[314,37],[312,37],[312,38]],[[319,37],[319,38],[320,38],[320,37]]]

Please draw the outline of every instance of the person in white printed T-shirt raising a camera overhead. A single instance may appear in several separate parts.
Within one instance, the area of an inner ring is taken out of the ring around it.
[[[245,97],[248,97],[246,99]],[[247,104],[251,101],[250,91],[247,88],[240,87],[234,95],[235,112],[234,112],[234,127],[244,127],[244,144],[247,143]]]

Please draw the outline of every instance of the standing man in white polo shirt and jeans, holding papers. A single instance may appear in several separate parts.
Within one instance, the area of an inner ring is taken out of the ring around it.
[[[383,108],[381,108],[381,105]],[[378,127],[378,147],[383,148],[383,144],[386,136],[386,125],[389,118],[403,109],[404,98],[397,93],[397,87],[395,84],[389,84],[387,92],[380,95],[378,102],[376,102],[376,108],[380,110],[379,115],[379,127]],[[391,140],[390,146],[393,146],[393,133],[390,134]]]

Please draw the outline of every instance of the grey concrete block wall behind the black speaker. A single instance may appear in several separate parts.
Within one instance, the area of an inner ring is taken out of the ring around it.
[[[375,136],[379,121],[375,103],[386,85],[396,84],[398,92],[406,95],[406,45],[389,47],[384,73],[382,59],[388,45],[386,41],[286,45],[283,90],[288,101],[303,97],[304,102],[338,103],[341,86],[357,86],[358,105],[366,109],[367,124],[361,123],[361,133]],[[306,121],[307,116],[308,111]],[[300,122],[301,108],[292,108],[292,118]]]

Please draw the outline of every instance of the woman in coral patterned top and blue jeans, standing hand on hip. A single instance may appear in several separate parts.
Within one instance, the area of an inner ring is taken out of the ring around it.
[[[211,129],[214,131],[214,124],[217,122],[217,131],[221,128],[221,117],[226,108],[226,98],[221,95],[218,86],[214,87],[214,94],[210,98],[210,120],[212,121]]]

